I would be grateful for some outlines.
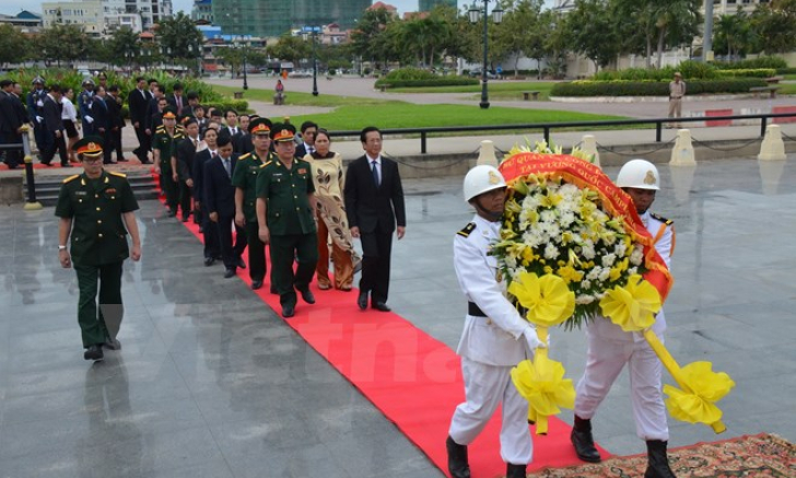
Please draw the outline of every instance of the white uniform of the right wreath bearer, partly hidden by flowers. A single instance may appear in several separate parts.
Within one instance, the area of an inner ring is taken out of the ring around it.
[[[641,217],[653,237],[660,257],[669,267],[675,246],[675,232],[671,222],[652,215],[646,211]],[[664,230],[662,230],[664,228]],[[664,341],[666,318],[662,310],[655,318],[653,331]],[[663,364],[644,339],[641,333],[625,333],[610,322],[597,316],[589,322],[587,328],[588,352],[586,370],[577,383],[575,415],[583,419],[592,419],[597,407],[608,395],[613,381],[625,363],[629,364],[631,401],[635,432],[640,439],[669,440],[669,427],[666,422],[666,407],[662,390]]]

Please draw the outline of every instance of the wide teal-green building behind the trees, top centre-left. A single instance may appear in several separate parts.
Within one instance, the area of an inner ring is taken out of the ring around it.
[[[214,23],[230,35],[278,37],[293,28],[352,27],[371,0],[212,0]]]

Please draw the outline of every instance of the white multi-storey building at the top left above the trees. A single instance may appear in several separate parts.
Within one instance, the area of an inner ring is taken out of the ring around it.
[[[42,3],[44,27],[80,25],[105,36],[122,26],[142,32],[172,16],[172,0],[73,0]]]

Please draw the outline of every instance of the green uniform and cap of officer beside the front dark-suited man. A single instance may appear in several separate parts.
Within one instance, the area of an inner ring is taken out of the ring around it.
[[[293,133],[295,129],[288,125]],[[285,125],[274,125],[271,139],[293,140]],[[312,166],[306,161],[293,160],[289,170],[279,159],[260,166],[257,176],[257,197],[266,199],[266,221],[270,230],[271,279],[280,295],[280,303],[295,305],[298,290],[309,290],[309,282],[318,261],[318,240],[315,213],[308,195],[315,193]],[[293,273],[293,258],[298,266]]]

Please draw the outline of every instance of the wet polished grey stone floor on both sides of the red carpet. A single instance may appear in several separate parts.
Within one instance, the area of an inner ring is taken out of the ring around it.
[[[667,347],[737,382],[718,438],[796,441],[794,160],[660,166],[654,209],[678,232]],[[450,242],[471,215],[460,178],[405,187],[389,304],[455,347],[465,303]],[[138,217],[143,258],[126,264],[124,348],[92,365],[52,209],[0,209],[0,478],[443,476],[242,281],[203,267],[199,243],[159,203],[142,202]],[[567,376],[580,376],[584,353],[583,333],[554,331],[551,354]],[[629,406],[622,375],[595,418],[613,453],[644,447]],[[670,425],[674,446],[718,439]]]

